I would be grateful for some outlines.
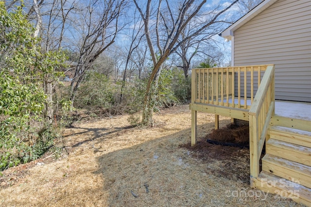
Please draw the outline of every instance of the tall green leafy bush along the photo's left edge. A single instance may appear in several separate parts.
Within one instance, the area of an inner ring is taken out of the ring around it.
[[[3,170],[37,159],[53,144],[53,130],[43,123],[47,95],[42,85],[61,75],[54,69],[62,65],[63,56],[57,51],[41,52],[33,35],[35,28],[21,7],[8,13],[0,1],[0,16],[0,170]]]

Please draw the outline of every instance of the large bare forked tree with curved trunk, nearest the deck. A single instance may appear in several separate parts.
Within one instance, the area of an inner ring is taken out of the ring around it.
[[[164,4],[166,4],[165,12],[167,15],[163,14],[162,1],[164,1]],[[238,0],[235,0],[228,7],[221,11],[219,11],[219,9],[210,11],[204,18],[202,18],[202,21],[196,30],[185,36],[181,41],[178,41],[181,32],[191,22],[191,19],[202,13],[202,8],[206,3],[206,0],[200,0],[198,3],[195,3],[195,0],[183,0],[179,3],[169,0],[158,0],[155,11],[152,11],[152,0],[148,0],[146,2],[144,11],[142,10],[142,6],[138,4],[137,0],[134,0],[134,3],[144,21],[146,39],[153,61],[153,70],[149,77],[147,90],[144,97],[144,109],[142,113],[143,125],[153,125],[152,115],[154,109],[154,89],[157,88],[159,74],[162,70],[165,60],[174,51],[176,51],[176,49],[179,48],[181,44],[188,41],[190,38],[197,36],[209,26],[220,22],[221,20],[218,20],[219,16],[227,11],[237,1]],[[177,5],[178,7],[174,8],[173,5]],[[155,14],[155,16],[151,22],[152,14]],[[166,19],[164,16],[168,18]],[[155,24],[154,32],[151,32],[153,29],[153,24]],[[163,28],[166,32],[160,34],[161,29]],[[155,42],[153,41],[152,33],[155,33]],[[155,47],[157,50],[155,50]]]

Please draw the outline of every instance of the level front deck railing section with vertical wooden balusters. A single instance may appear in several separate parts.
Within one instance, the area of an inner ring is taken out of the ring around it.
[[[249,110],[267,66],[192,69],[191,102]]]

